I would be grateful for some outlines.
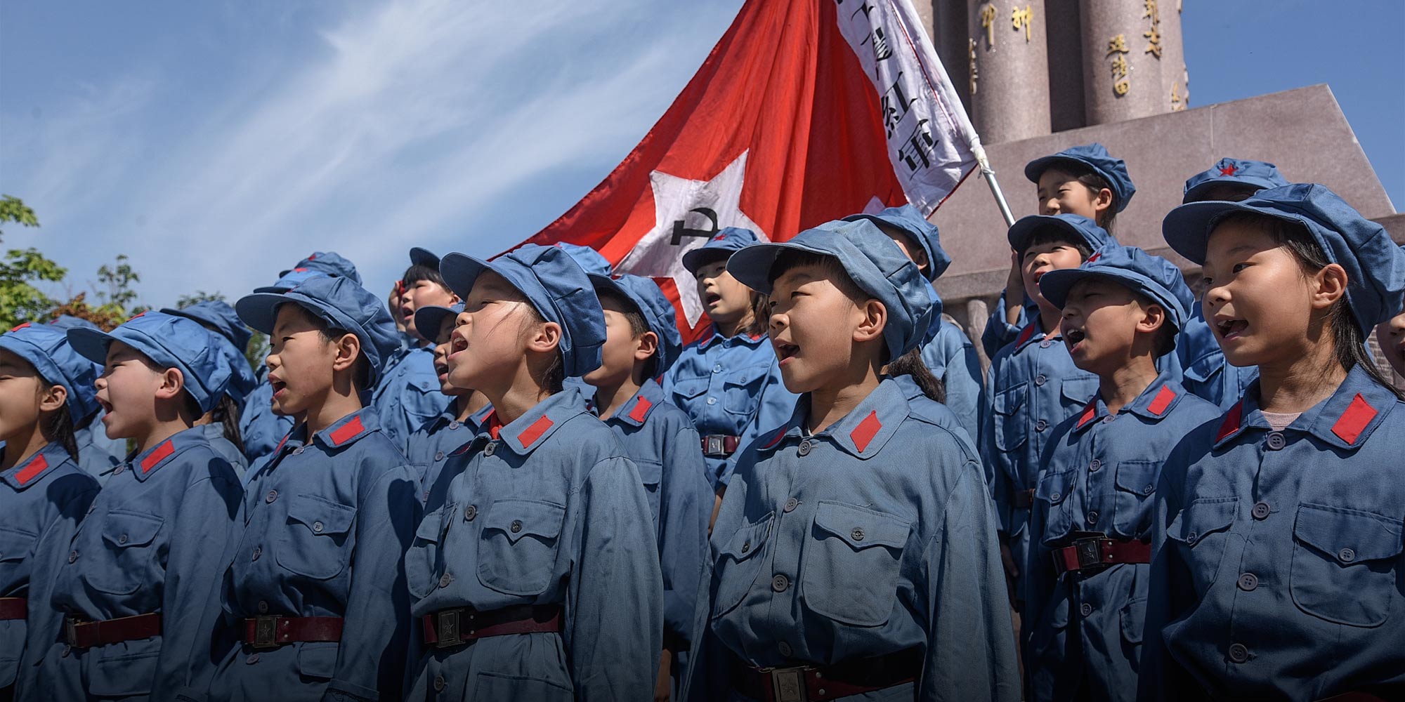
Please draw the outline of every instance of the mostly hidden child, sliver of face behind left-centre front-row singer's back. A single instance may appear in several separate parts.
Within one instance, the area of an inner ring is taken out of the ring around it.
[[[464,444],[473,441],[483,420],[493,411],[493,406],[488,403],[483,393],[457,388],[448,382],[450,337],[454,334],[455,319],[461,312],[464,312],[462,302],[455,302],[452,307],[430,306],[414,310],[416,329],[438,330],[434,345],[434,373],[438,376],[440,392],[450,397],[444,411],[410,434],[410,451],[406,453],[410,466],[420,479],[420,498],[426,503],[426,511],[437,510],[443,504],[448,483],[454,479],[452,475],[443,472],[448,456]],[[431,493],[438,497],[433,505],[429,504]]]

